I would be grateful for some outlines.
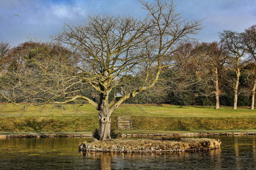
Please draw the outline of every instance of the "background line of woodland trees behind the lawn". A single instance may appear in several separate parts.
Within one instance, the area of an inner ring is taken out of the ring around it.
[[[128,98],[125,103],[215,105],[217,109],[219,105],[233,106],[234,109],[236,106],[251,106],[253,109],[256,88],[256,25],[241,33],[220,32],[219,38],[219,42],[190,40],[179,43],[173,53],[169,54],[172,55],[172,60],[168,61],[168,58],[163,60],[166,65],[172,66],[163,69],[157,84],[133,98]],[[1,42],[0,101],[26,102],[23,98],[24,93],[18,88],[20,83],[18,74],[22,72],[32,72],[30,76],[39,74],[35,67],[44,67],[43,64],[38,63],[47,62],[49,56],[55,57],[58,63],[50,65],[48,63],[46,67],[51,68],[44,69],[52,69],[53,73],[58,72],[58,74],[65,73],[65,69],[74,74],[79,72],[79,69],[67,68],[67,65],[75,68],[79,65],[79,59],[71,49],[60,43],[30,41],[10,47],[7,42]],[[93,70],[93,68],[87,69]],[[152,65],[151,69],[157,70],[157,67]],[[140,76],[135,78],[132,73],[122,76],[120,80],[126,82],[125,86],[115,87],[110,93],[110,98],[120,97],[134,87],[140,86],[147,73],[141,71],[139,74],[142,78]],[[30,81],[36,79],[36,77],[23,78]],[[72,93],[75,93],[79,84],[72,88],[74,88],[71,90]],[[31,95],[29,93],[27,92],[27,95]],[[90,99],[93,101],[99,100],[98,92],[90,86],[81,93],[90,94]],[[51,94],[45,92],[44,95],[49,97]],[[63,98],[57,100],[62,101]]]

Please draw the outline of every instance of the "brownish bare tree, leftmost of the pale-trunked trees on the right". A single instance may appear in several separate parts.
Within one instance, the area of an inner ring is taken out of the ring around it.
[[[190,47],[191,52],[189,53],[192,61],[189,61],[189,63],[191,67],[194,67],[197,80],[200,80],[197,83],[203,87],[204,92],[201,92],[200,89],[197,90],[202,96],[209,96],[214,93],[216,99],[215,108],[219,109],[221,77],[227,58],[226,50],[222,43],[217,42],[193,42],[192,44]]]

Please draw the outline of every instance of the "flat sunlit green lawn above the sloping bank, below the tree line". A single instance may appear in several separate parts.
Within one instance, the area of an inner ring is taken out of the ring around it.
[[[98,111],[93,105],[47,105],[44,108],[28,106],[23,111],[20,107],[7,104],[0,105],[0,116],[97,116]],[[123,116],[161,116],[161,117],[246,117],[255,118],[256,110],[249,107],[221,107],[215,110],[212,106],[177,106],[177,105],[141,105],[123,104],[113,112]]]

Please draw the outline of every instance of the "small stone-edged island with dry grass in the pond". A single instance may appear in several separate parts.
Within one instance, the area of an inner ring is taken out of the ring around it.
[[[162,139],[114,139],[79,144],[79,151],[96,152],[171,152],[200,151],[219,148],[221,141],[207,138],[182,138],[180,142]]]

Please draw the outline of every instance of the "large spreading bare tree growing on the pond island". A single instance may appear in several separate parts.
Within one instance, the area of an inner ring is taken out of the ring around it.
[[[99,111],[100,140],[110,139],[112,112],[128,98],[152,88],[161,70],[171,66],[163,60],[172,56],[177,43],[202,29],[200,20],[187,21],[175,13],[172,1],[141,3],[148,12],[143,20],[97,15],[79,26],[67,24],[52,38],[69,46],[79,62],[59,62],[49,55],[49,49],[41,48],[38,55],[47,59],[18,75],[23,76],[24,96],[35,104],[65,104],[77,99],[90,103]],[[138,78],[138,85],[125,88]],[[83,93],[91,88],[98,92],[99,101]],[[123,90],[122,96],[111,98],[114,88]]]

